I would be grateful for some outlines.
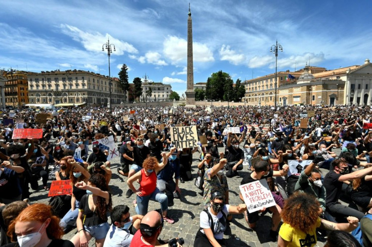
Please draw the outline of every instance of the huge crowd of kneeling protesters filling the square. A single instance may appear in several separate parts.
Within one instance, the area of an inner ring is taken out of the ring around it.
[[[314,246],[318,227],[337,236],[328,246],[372,246],[370,112],[369,106],[3,110],[0,244],[87,246],[94,238],[100,247],[179,246],[179,239],[164,242],[159,235],[164,222],[175,223],[167,210],[181,196],[179,183],[199,177],[205,209],[194,212],[200,213],[194,246],[226,245],[223,232],[233,214],[255,229],[260,212],[272,213],[267,237],[278,246]],[[50,116],[40,120],[39,113]],[[206,142],[176,149],[170,128],[184,126],[196,126]],[[15,129],[40,129],[42,138],[15,139]],[[110,136],[119,146],[117,172],[127,177],[121,189],[126,198],[136,196],[133,216],[131,205],[112,202],[112,164],[97,144]],[[306,160],[291,174],[292,161]],[[249,172],[241,184],[265,179],[275,206],[249,212],[239,191],[242,204],[229,204],[228,181],[243,169]],[[30,189],[47,192],[52,180],[69,180],[72,193],[53,197],[50,206],[38,203]],[[342,196],[351,204],[341,204]],[[150,200],[160,203],[158,212],[148,212]],[[360,239],[345,235],[355,228]],[[73,229],[70,241],[61,240]]]

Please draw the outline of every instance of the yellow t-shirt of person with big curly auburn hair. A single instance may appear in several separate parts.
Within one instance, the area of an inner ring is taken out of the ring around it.
[[[283,223],[279,230],[279,235],[289,241],[288,247],[312,247],[316,244],[316,228],[320,226],[320,218],[308,232],[296,229],[287,223]]]

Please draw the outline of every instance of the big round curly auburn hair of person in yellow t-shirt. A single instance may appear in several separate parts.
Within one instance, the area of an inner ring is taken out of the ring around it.
[[[285,202],[281,216],[284,223],[308,232],[319,218],[318,210],[319,202],[314,196],[296,192]]]

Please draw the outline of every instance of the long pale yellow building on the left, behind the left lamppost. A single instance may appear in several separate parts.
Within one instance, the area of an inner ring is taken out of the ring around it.
[[[110,98],[109,82],[108,76],[89,71],[42,71],[28,77],[29,102],[107,105]],[[111,83],[111,102],[120,104],[124,100],[124,91],[116,78],[111,78]]]

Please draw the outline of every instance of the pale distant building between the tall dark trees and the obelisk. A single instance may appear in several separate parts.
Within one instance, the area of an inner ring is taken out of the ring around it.
[[[147,91],[151,90],[151,95],[147,95]],[[156,102],[169,101],[169,94],[172,92],[170,84],[163,84],[161,82],[145,82],[142,83],[142,95],[140,102]]]

